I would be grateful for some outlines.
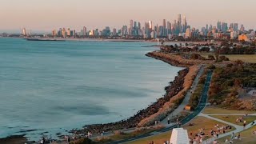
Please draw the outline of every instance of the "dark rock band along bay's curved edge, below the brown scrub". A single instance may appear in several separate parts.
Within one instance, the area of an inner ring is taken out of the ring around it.
[[[166,102],[170,101],[170,98],[174,97],[180,90],[183,89],[184,78],[189,72],[189,69],[180,70],[178,76],[174,78],[174,82],[170,82],[170,86],[166,86],[166,94],[163,98],[159,98],[157,102],[154,102],[146,109],[139,110],[137,114],[126,120],[120,122],[111,122],[106,124],[94,124],[84,126],[82,130],[72,130],[71,132],[76,132],[77,134],[86,134],[90,131],[93,134],[101,134],[102,131],[114,131],[138,127],[138,123],[142,121],[143,118],[148,118],[150,115],[158,112]]]

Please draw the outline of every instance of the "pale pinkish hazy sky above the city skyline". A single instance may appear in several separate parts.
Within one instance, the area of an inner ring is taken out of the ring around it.
[[[178,14],[196,28],[219,20],[255,30],[255,6],[256,0],[0,0],[0,31],[121,28],[130,19],[162,25]]]

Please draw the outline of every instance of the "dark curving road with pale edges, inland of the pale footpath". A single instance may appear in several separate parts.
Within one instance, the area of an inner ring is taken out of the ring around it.
[[[212,71],[209,71],[207,74],[206,82],[205,82],[204,88],[202,90],[202,95],[201,95],[200,101],[198,103],[198,107],[193,111],[193,113],[189,114],[186,118],[183,118],[180,121],[182,126],[185,125],[186,123],[190,122],[192,119],[194,119],[205,108],[212,73],[213,73]],[[110,142],[110,144],[126,143],[126,142],[135,141],[135,140],[138,140],[141,138],[147,138],[147,137],[154,136],[157,134],[165,133],[166,131],[172,130],[177,127],[178,127],[178,125],[175,124],[173,126],[169,126],[169,127],[163,128],[161,130],[155,130],[154,132],[138,135],[137,137],[134,137],[134,138],[128,138],[128,139],[124,139],[124,140],[120,140],[120,141],[116,141],[116,142]]]

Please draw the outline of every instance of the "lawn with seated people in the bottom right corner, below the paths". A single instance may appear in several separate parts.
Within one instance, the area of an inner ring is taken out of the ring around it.
[[[252,134],[253,130],[256,130],[256,126],[253,126],[250,129],[248,129],[248,130],[242,131],[240,133],[242,140],[234,140],[234,143],[238,143],[238,144],[244,144],[244,143],[246,143],[246,144],[255,144],[256,143],[256,135]],[[236,135],[238,135],[238,134],[236,134]],[[226,136],[224,138],[219,138],[218,142],[224,144],[225,143],[224,141],[226,140],[226,138],[228,138],[228,140],[230,140],[230,135]]]

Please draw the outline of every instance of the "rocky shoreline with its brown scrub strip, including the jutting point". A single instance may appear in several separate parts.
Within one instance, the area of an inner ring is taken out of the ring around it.
[[[174,81],[170,82],[170,85],[165,87],[166,94],[164,94],[164,97],[158,98],[157,102],[154,102],[143,110],[139,110],[137,114],[134,114],[134,116],[126,120],[106,124],[86,125],[82,130],[71,130],[71,133],[87,134],[87,132],[90,131],[93,134],[101,134],[102,131],[110,132],[114,130],[127,130],[136,127],[152,126],[152,124],[154,125],[154,120],[156,120],[155,118],[158,117],[159,114],[166,116],[174,110],[177,105],[173,104],[173,102],[177,100],[182,101],[186,94],[186,90],[190,88],[194,81],[199,66],[195,66],[193,63],[178,61],[174,58],[161,57],[154,54],[154,52],[150,52],[146,54],[146,56],[162,60],[171,66],[184,67],[183,70],[178,71],[178,75],[174,78]],[[166,106],[171,107],[171,110],[166,111]],[[163,117],[161,116],[157,119],[162,120]]]

